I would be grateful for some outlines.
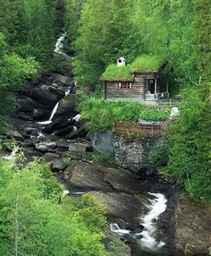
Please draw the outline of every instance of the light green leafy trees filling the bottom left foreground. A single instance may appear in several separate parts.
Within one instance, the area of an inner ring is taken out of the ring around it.
[[[105,256],[105,209],[91,195],[64,197],[46,164],[16,171],[0,159],[0,252],[3,255]],[[57,197],[61,201],[52,200]]]

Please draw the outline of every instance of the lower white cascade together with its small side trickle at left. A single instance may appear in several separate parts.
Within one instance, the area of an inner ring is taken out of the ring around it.
[[[156,223],[155,220],[159,218],[159,216],[165,212],[166,209],[166,198],[164,194],[161,193],[148,193],[150,195],[155,196],[156,198],[150,201],[150,205],[147,205],[149,211],[148,214],[141,218],[141,224],[145,227],[145,229],[139,234],[132,234],[129,230],[122,229],[118,224],[112,223],[110,224],[110,229],[112,232],[118,235],[131,235],[133,238],[142,235],[139,243],[144,248],[148,248],[150,250],[161,248],[165,245],[163,242],[156,241]]]

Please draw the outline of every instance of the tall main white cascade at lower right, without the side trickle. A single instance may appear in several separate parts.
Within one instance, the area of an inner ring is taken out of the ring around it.
[[[151,204],[148,206],[149,212],[146,216],[141,218],[143,221],[141,224],[145,226],[145,230],[141,233],[143,238],[140,239],[140,243],[146,248],[160,248],[165,245],[163,242],[157,242],[155,239],[156,235],[156,223],[155,220],[165,212],[166,209],[166,198],[161,193],[148,193],[154,195],[156,199],[149,200]]]

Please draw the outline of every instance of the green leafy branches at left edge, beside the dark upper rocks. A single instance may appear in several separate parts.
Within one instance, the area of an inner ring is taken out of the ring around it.
[[[16,103],[14,92],[20,90],[23,82],[35,75],[38,63],[32,57],[23,59],[9,53],[4,35],[0,33],[0,131],[5,129],[7,116],[13,113]]]

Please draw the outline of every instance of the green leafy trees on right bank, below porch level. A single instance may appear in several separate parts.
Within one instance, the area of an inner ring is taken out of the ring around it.
[[[209,85],[184,91],[181,115],[169,128],[171,144],[165,170],[186,183],[187,190],[198,200],[211,199],[211,130]]]

